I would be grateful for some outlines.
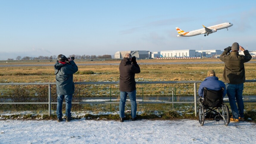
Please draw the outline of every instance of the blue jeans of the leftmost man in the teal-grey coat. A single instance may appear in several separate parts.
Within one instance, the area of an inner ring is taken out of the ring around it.
[[[71,117],[71,101],[72,95],[58,95],[57,97],[57,118],[62,118],[62,104],[65,97],[66,101],[66,117]]]

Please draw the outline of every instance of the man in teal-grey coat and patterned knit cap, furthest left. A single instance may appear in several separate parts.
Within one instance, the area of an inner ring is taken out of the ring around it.
[[[73,74],[78,71],[78,67],[71,58],[66,58],[64,55],[58,55],[58,60],[54,65],[56,75],[57,89],[57,122],[62,121],[62,104],[65,98],[66,101],[66,121],[70,121],[71,117],[71,101],[72,94],[75,90],[73,82]]]

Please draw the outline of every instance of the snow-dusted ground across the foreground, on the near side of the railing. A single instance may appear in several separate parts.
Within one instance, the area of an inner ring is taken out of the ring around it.
[[[223,120],[0,120],[0,143],[255,143],[255,123]]]

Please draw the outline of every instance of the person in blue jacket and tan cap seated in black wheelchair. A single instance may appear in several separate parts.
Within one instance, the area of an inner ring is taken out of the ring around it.
[[[203,125],[205,115],[214,112],[216,121],[222,117],[225,125],[228,125],[229,110],[226,104],[223,104],[223,97],[227,94],[226,85],[218,80],[213,70],[207,72],[207,78],[200,84],[198,94],[199,123]],[[222,114],[219,112],[220,108],[224,111]]]

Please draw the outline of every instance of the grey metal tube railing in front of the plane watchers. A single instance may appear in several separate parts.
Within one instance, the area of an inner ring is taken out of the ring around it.
[[[194,84],[194,101],[173,101],[174,91],[172,90],[172,101],[137,101],[138,104],[194,104],[195,116],[197,115],[197,84],[202,81],[154,81],[154,82],[136,82],[136,84]],[[256,82],[256,80],[246,80],[246,82]],[[95,84],[119,84],[119,82],[75,82],[75,84],[82,85],[95,85]],[[51,104],[57,104],[57,102],[52,102],[51,99],[51,85],[56,85],[56,83],[0,83],[0,85],[48,85],[48,102],[0,102],[0,104],[48,104],[49,116],[51,115]],[[110,90],[111,91],[111,90]],[[143,89],[142,89],[143,95]],[[111,96],[111,92],[110,92]],[[227,102],[227,101],[226,101]],[[256,101],[244,101],[244,102],[256,102]],[[119,104],[117,101],[88,101],[88,102],[72,102],[72,104]],[[130,102],[127,101],[127,104]]]

